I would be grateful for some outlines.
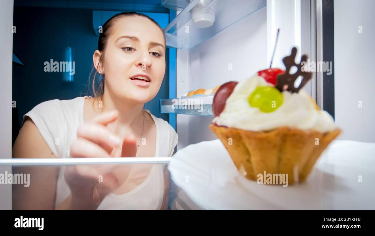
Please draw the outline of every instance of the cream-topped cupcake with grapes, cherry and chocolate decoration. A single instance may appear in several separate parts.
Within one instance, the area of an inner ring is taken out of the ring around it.
[[[288,174],[288,184],[303,182],[321,153],[341,130],[300,90],[311,78],[296,64],[297,49],[283,59],[286,70],[269,68],[251,78],[231,81],[216,91],[210,129],[246,178]],[[301,62],[307,57],[302,56]],[[292,66],[297,72],[290,74]],[[301,83],[294,83],[301,77]]]

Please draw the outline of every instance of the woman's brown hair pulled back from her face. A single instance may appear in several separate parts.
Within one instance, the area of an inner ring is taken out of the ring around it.
[[[146,16],[146,15],[144,15],[142,13],[138,13],[138,12],[121,12],[121,13],[118,13],[118,14],[112,16],[110,19],[108,19],[108,21],[106,21],[104,23],[104,25],[102,27],[102,32],[99,33],[98,50],[100,52],[103,52],[103,53],[102,53],[102,55],[99,59],[97,67],[104,60],[103,58],[104,58],[104,53],[105,53],[105,47],[107,45],[108,38],[110,37],[110,35],[112,33],[111,31],[113,29],[114,21],[117,20],[118,18],[124,17],[124,16],[142,16],[142,17],[145,17],[145,18],[149,19],[150,21],[152,21],[155,25],[157,25],[160,28],[160,30],[163,32],[163,35],[164,35],[164,31],[160,27],[160,25],[157,24],[157,22],[154,19],[150,18],[149,16]],[[165,44],[165,36],[164,36],[164,44]],[[93,66],[93,70],[94,69],[95,69],[95,67]],[[91,73],[90,73],[90,75],[91,75]],[[98,71],[95,70],[95,74],[94,74],[93,82],[92,82],[92,90],[93,90],[94,97],[102,97],[103,93],[104,93],[105,75],[102,75],[99,86],[98,86],[98,88],[95,89],[95,78],[96,78],[97,73],[98,73]]]

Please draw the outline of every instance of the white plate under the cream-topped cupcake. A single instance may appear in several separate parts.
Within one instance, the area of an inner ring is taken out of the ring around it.
[[[217,139],[179,150],[168,169],[205,209],[375,209],[374,167],[375,143],[335,140],[305,183],[258,184],[239,174]]]

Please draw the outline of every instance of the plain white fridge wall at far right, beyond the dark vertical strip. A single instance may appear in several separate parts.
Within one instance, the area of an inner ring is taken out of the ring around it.
[[[334,1],[335,122],[339,139],[375,142],[375,1]],[[372,46],[371,46],[372,45]]]

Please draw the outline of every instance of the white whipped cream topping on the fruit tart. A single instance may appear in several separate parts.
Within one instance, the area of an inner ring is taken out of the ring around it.
[[[258,75],[241,81],[226,100],[222,113],[213,122],[251,131],[267,131],[287,126],[324,133],[336,128],[333,118],[326,111],[317,110],[312,98],[303,90],[298,93],[283,91],[283,103],[273,112],[262,112],[259,108],[250,106],[248,97],[258,86],[275,87]]]

